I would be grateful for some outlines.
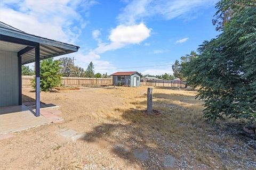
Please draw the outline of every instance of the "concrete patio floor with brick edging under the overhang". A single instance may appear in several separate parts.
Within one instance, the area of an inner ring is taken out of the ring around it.
[[[39,117],[36,117],[33,111],[24,105],[0,107],[0,134],[62,122],[63,119],[59,115],[60,111],[51,107],[41,109],[41,116]]]

